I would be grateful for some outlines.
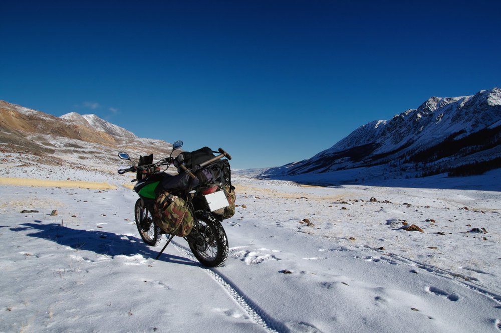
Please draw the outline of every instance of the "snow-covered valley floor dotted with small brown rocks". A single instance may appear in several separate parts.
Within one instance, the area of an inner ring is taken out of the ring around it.
[[[129,178],[107,182],[0,185],[0,331],[501,331],[500,192],[234,177],[230,253],[206,269],[178,237],[154,260],[165,239],[142,243]]]

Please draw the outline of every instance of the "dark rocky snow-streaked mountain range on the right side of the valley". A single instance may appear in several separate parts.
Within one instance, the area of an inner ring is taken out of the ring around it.
[[[338,184],[357,182],[361,175],[365,179],[446,172],[460,176],[472,169],[479,173],[500,168],[500,143],[501,89],[492,88],[473,96],[431,97],[417,109],[369,122],[331,148],[272,168],[261,177],[305,181],[310,176],[316,180],[313,183]],[[355,169],[358,172],[350,179],[346,171]]]

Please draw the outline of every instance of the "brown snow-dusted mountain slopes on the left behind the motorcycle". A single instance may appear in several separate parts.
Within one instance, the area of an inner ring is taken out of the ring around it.
[[[61,117],[0,101],[0,151],[22,153],[24,164],[109,169],[116,173],[116,154],[166,156],[172,144],[138,138],[96,115],[72,112]],[[4,161],[6,162],[6,161]]]

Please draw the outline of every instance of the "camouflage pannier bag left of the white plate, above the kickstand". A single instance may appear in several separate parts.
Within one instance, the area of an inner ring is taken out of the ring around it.
[[[167,234],[187,236],[193,228],[193,215],[184,199],[161,192],[155,199],[153,220]]]

